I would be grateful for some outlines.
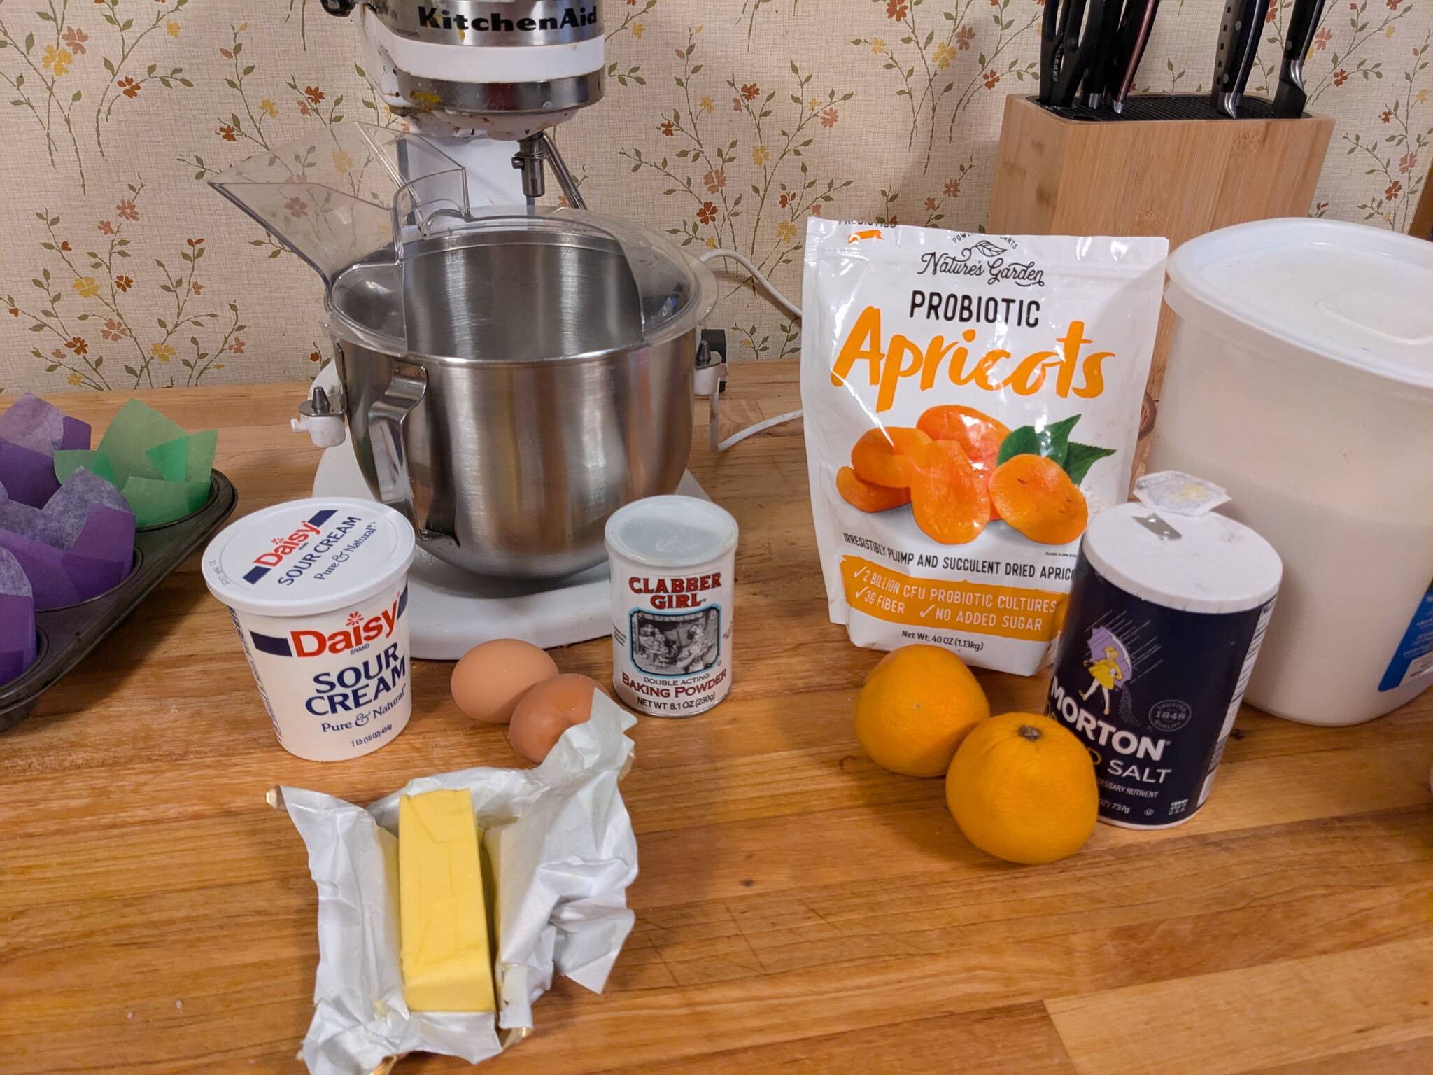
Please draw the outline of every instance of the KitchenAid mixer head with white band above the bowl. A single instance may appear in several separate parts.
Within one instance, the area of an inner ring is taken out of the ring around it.
[[[321,0],[357,9],[368,76],[384,103],[420,130],[520,145],[523,192],[543,194],[543,162],[565,175],[547,128],[602,99],[600,0]]]

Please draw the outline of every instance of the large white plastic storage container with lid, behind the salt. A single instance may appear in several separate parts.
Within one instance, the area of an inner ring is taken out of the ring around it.
[[[1169,258],[1151,470],[1225,486],[1284,560],[1247,699],[1358,724],[1433,687],[1433,244],[1281,219]]]

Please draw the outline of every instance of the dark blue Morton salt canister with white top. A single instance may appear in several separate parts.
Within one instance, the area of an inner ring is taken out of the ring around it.
[[[1278,586],[1278,553],[1222,515],[1091,520],[1049,711],[1095,761],[1102,821],[1165,828],[1204,806]]]

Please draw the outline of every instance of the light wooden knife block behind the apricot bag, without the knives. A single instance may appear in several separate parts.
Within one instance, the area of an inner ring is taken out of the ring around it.
[[[1245,100],[1254,112],[1268,110],[1264,102]],[[986,229],[1164,235],[1174,249],[1231,224],[1304,216],[1333,130],[1331,119],[1310,115],[1091,122],[1010,96]],[[1166,307],[1149,370],[1155,398],[1172,322]]]

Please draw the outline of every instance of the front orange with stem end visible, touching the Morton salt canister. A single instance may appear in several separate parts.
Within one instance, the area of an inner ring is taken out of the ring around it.
[[[946,774],[946,806],[966,838],[1010,863],[1073,854],[1099,816],[1095,764],[1059,721],[992,717],[966,735]]]

